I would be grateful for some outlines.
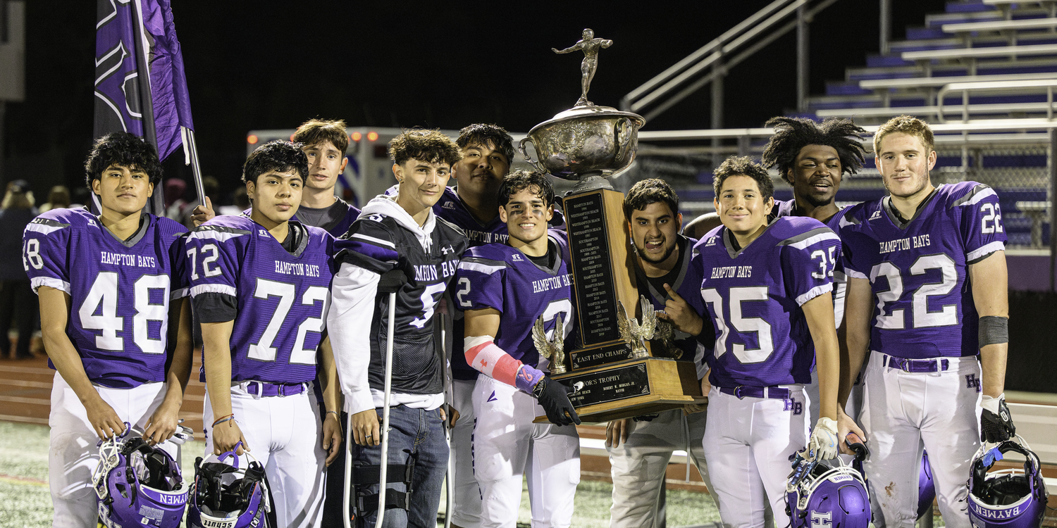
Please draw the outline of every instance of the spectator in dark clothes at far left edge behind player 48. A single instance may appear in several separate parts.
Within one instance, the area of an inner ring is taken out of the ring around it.
[[[30,338],[38,313],[37,296],[33,295],[22,263],[22,231],[36,215],[29,182],[16,180],[7,184],[7,192],[0,203],[0,337],[4,339],[0,342],[4,343],[2,350],[8,351],[7,331],[15,319],[18,345],[12,354],[13,359],[33,357]]]

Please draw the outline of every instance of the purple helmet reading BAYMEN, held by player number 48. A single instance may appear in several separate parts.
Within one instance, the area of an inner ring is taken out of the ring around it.
[[[187,488],[180,466],[165,450],[125,433],[99,442],[92,475],[99,521],[109,528],[175,528],[184,518]]]

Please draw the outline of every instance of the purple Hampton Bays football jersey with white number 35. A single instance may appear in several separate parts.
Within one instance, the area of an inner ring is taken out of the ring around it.
[[[716,386],[811,382],[815,345],[803,303],[830,293],[840,240],[821,222],[784,216],[736,250],[724,226],[694,246],[701,297],[716,327]]]

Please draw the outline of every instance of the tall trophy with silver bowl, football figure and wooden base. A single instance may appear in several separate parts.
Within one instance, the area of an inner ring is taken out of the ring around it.
[[[646,121],[637,114],[597,106],[587,98],[598,50],[612,44],[612,40],[594,38],[594,32],[585,30],[580,41],[554,50],[583,52],[580,98],[573,108],[533,127],[518,146],[536,170],[577,182],[565,194],[563,208],[582,347],[570,353],[565,372],[564,361],[552,352],[555,345],[545,338],[535,341],[540,354],[545,350],[545,357],[552,357],[553,379],[570,386],[582,384],[569,399],[587,422],[705,401],[692,363],[653,357],[650,352],[649,340],[656,338],[667,344],[665,336],[671,328],[656,319],[652,304],[638,295],[624,193],[606,180],[634,161],[638,129]],[[538,161],[526,152],[526,143],[535,147]],[[546,421],[546,417],[536,421]]]

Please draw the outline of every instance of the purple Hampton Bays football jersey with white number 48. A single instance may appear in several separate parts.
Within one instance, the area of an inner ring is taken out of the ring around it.
[[[70,295],[67,335],[92,382],[165,381],[169,303],[187,296],[186,230],[144,214],[140,230],[120,241],[85,209],[53,209],[25,226],[22,263],[33,289]]]

